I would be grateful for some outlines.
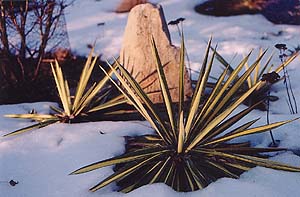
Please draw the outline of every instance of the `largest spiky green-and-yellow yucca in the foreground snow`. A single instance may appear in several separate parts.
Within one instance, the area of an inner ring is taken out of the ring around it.
[[[183,35],[182,35],[183,38]],[[115,172],[92,187],[96,191],[114,181],[119,190],[130,192],[140,186],[162,182],[176,191],[194,191],[206,187],[221,177],[238,178],[241,173],[255,166],[277,170],[300,172],[293,167],[268,160],[267,152],[283,151],[283,148],[254,148],[249,142],[233,143],[230,140],[250,134],[268,131],[293,120],[270,125],[251,127],[258,119],[233,127],[256,105],[233,114],[233,111],[262,83],[261,81],[246,91],[240,98],[233,98],[241,85],[247,80],[255,65],[249,67],[240,77],[238,73],[244,66],[242,62],[229,77],[228,68],[219,77],[208,97],[204,91],[213,65],[214,54],[209,58],[209,41],[200,76],[190,105],[184,105],[184,41],[181,43],[179,95],[175,105],[172,103],[166,77],[159,54],[152,39],[156,58],[161,93],[167,115],[158,113],[139,84],[120,64],[111,66],[119,79],[116,87],[126,96],[136,109],[149,121],[154,135],[127,138],[126,152],[123,155],[82,167],[71,174],[89,172],[105,166],[116,165]],[[107,76],[110,76],[102,69]],[[232,82],[236,80],[235,84]],[[164,118],[165,117],[165,118]],[[250,128],[251,127],[251,128]]]

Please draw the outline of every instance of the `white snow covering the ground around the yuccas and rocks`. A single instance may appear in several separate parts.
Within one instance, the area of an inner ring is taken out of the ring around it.
[[[199,69],[206,41],[213,35],[218,43],[219,52],[228,61],[237,62],[251,49],[269,48],[271,53],[277,43],[286,43],[288,48],[300,44],[300,26],[274,25],[261,15],[243,15],[232,17],[203,16],[193,11],[199,0],[156,0],[164,8],[167,21],[178,17],[186,18],[184,32],[186,47],[192,68]],[[116,14],[112,10],[117,0],[75,1],[66,11],[67,27],[72,50],[87,54],[87,44],[97,39],[97,52],[104,58],[118,56],[122,34],[128,14]],[[97,26],[105,22],[104,26]],[[170,27],[174,44],[179,43],[177,29]],[[278,32],[282,35],[277,36]],[[263,39],[262,39],[263,38]],[[279,64],[278,51],[274,51],[273,63]],[[233,57],[237,55],[234,59]],[[253,58],[256,56],[253,55]],[[233,60],[232,60],[233,59]],[[295,96],[300,103],[299,57],[289,66],[294,85]],[[215,75],[220,70],[216,66]],[[290,115],[286,94],[282,83],[275,85],[272,94],[280,99],[271,103],[271,121],[295,118]],[[4,114],[27,113],[35,109],[47,113],[49,103],[18,105],[0,105],[0,136],[17,128],[32,124],[30,121],[4,118]],[[241,106],[240,109],[244,108]],[[254,110],[247,119],[262,117],[265,113]],[[300,122],[295,121],[274,131],[281,147],[300,149]],[[104,133],[101,134],[100,133]],[[151,133],[146,122],[96,122],[82,124],[56,124],[16,137],[0,139],[0,197],[89,197],[89,196],[259,196],[259,197],[295,197],[300,193],[300,174],[275,171],[256,167],[238,180],[223,178],[210,184],[201,191],[177,193],[164,184],[153,184],[139,188],[129,194],[114,191],[112,184],[95,193],[88,188],[112,173],[112,167],[106,167],[82,175],[68,174],[79,167],[99,161],[124,151],[126,135]],[[253,145],[265,147],[270,136],[259,134],[243,138],[251,140]],[[300,166],[300,157],[292,152],[278,154],[273,160]],[[19,181],[15,187],[7,182]]]

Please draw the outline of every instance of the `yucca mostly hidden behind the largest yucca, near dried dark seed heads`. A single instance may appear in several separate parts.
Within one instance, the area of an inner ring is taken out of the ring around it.
[[[213,48],[211,48],[214,50]],[[270,90],[273,84],[277,83],[282,77],[280,77],[280,72],[288,66],[297,56],[298,53],[295,53],[291,55],[286,61],[279,64],[277,67],[275,67],[273,64],[271,64],[273,55],[270,55],[265,63],[262,63],[262,58],[265,56],[266,50],[262,51],[260,50],[258,57],[254,61],[253,64],[256,64],[254,72],[247,77],[247,80],[244,82],[244,84],[241,86],[240,91],[237,92],[236,96],[239,97],[241,94],[245,93],[247,90],[252,88],[255,84],[260,83],[260,85],[253,91],[253,93],[243,102],[244,104],[250,106],[254,103],[257,103],[260,100],[269,100],[269,101],[276,101],[278,100],[278,97],[276,96],[270,96]],[[228,74],[232,73],[234,71],[234,68],[230,63],[228,63],[218,52],[216,52],[216,58],[219,60],[222,66],[224,66],[224,69],[228,68]],[[245,70],[249,69],[249,54],[246,57],[247,61],[244,63]],[[275,67],[275,68],[274,68]],[[237,76],[238,77],[238,76]],[[261,82],[263,81],[263,82]],[[234,84],[235,81],[233,81],[232,84]],[[213,84],[215,85],[215,84]],[[261,102],[260,105],[257,105],[258,109],[260,110],[267,110],[267,103]]]

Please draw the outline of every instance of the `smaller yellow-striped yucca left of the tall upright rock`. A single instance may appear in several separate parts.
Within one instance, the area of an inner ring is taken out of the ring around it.
[[[38,123],[18,129],[4,136],[17,135],[57,122],[78,122],[93,112],[103,112],[100,115],[97,114],[101,119],[101,116],[105,116],[112,112],[112,110],[110,111],[107,109],[111,109],[112,107],[126,103],[126,98],[121,94],[118,94],[114,98],[108,97],[108,94],[111,91],[111,88],[107,86],[107,82],[110,82],[109,76],[104,75],[99,82],[95,82],[92,86],[88,87],[90,76],[97,61],[97,57],[93,57],[93,51],[94,50],[92,49],[82,70],[75,96],[70,94],[68,81],[64,78],[62,69],[58,62],[55,61],[54,63],[51,63],[52,73],[57,86],[62,109],[50,106],[54,112],[53,114],[30,113],[5,115],[5,117],[9,118],[31,119],[37,121]],[[112,74],[112,71],[110,74]]]

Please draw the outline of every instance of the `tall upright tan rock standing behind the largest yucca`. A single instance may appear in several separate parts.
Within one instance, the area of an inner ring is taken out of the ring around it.
[[[170,33],[161,6],[138,5],[131,10],[125,29],[120,53],[120,61],[135,76],[154,103],[162,103],[160,84],[156,73],[155,58],[151,49],[151,36],[154,37],[161,62],[164,66],[171,97],[179,100],[179,61],[180,49],[171,43]],[[184,76],[185,99],[192,95],[188,72]]]

